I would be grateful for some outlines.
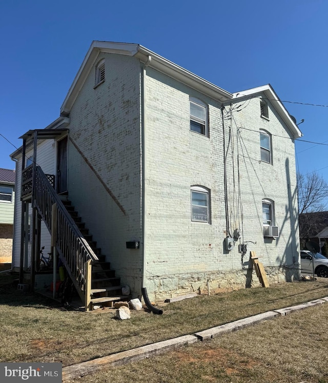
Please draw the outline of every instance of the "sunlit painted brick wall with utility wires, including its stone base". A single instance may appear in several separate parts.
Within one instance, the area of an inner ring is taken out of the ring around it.
[[[272,267],[271,280],[297,275],[294,142],[272,106],[270,121],[260,117],[258,98],[249,101],[241,112],[233,111],[233,118],[229,106],[223,113],[231,234],[234,229],[243,229],[241,241],[227,251],[223,243],[229,233],[221,104],[152,69],[147,69],[147,74],[146,277],[150,296],[165,298],[191,290],[204,291],[208,280],[216,291],[245,286],[247,271],[242,270],[238,253],[242,241],[254,242],[248,242],[244,261],[249,260],[249,251],[256,251],[264,266]],[[190,131],[190,97],[208,104],[209,137]],[[242,103],[234,100],[232,108]],[[284,137],[272,137],[272,165],[260,163],[259,129],[264,128]],[[210,189],[210,223],[191,221],[192,185]],[[263,238],[264,198],[275,201],[275,224],[280,228],[276,240]],[[281,270],[280,265],[285,269]],[[252,283],[258,283],[256,277]]]

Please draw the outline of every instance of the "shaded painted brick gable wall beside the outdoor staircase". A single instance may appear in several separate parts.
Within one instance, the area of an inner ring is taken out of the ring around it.
[[[102,59],[105,82],[94,89]],[[139,293],[142,249],[126,242],[141,241],[140,66],[108,53],[95,65],[70,112],[69,199],[121,282]]]

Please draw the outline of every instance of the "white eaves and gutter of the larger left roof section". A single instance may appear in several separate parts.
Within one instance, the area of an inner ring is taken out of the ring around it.
[[[83,84],[100,52],[133,56],[140,60],[141,63],[167,74],[171,78],[178,80],[201,93],[208,94],[214,100],[223,102],[230,100],[233,97],[232,93],[219,88],[189,70],[172,63],[139,44],[93,41],[67,93],[64,103],[61,105],[61,116],[67,116],[69,114],[72,105],[74,104],[80,89],[83,87]]]

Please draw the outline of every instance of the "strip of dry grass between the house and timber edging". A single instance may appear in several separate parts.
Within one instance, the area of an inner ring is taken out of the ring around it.
[[[41,295],[17,291],[13,278],[0,274],[0,361],[61,361],[63,366],[328,296],[324,278],[284,282],[162,304],[163,315],[133,311],[131,319],[119,321],[112,309],[69,311]],[[258,355],[261,347],[251,351]]]

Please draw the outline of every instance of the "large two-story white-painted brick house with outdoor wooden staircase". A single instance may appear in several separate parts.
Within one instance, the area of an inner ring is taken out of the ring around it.
[[[20,280],[37,282],[49,233],[87,308],[121,285],[152,300],[250,285],[250,250],[270,281],[297,279],[299,137],[270,85],[230,93],[140,45],[93,42],[59,118],[12,154]]]

